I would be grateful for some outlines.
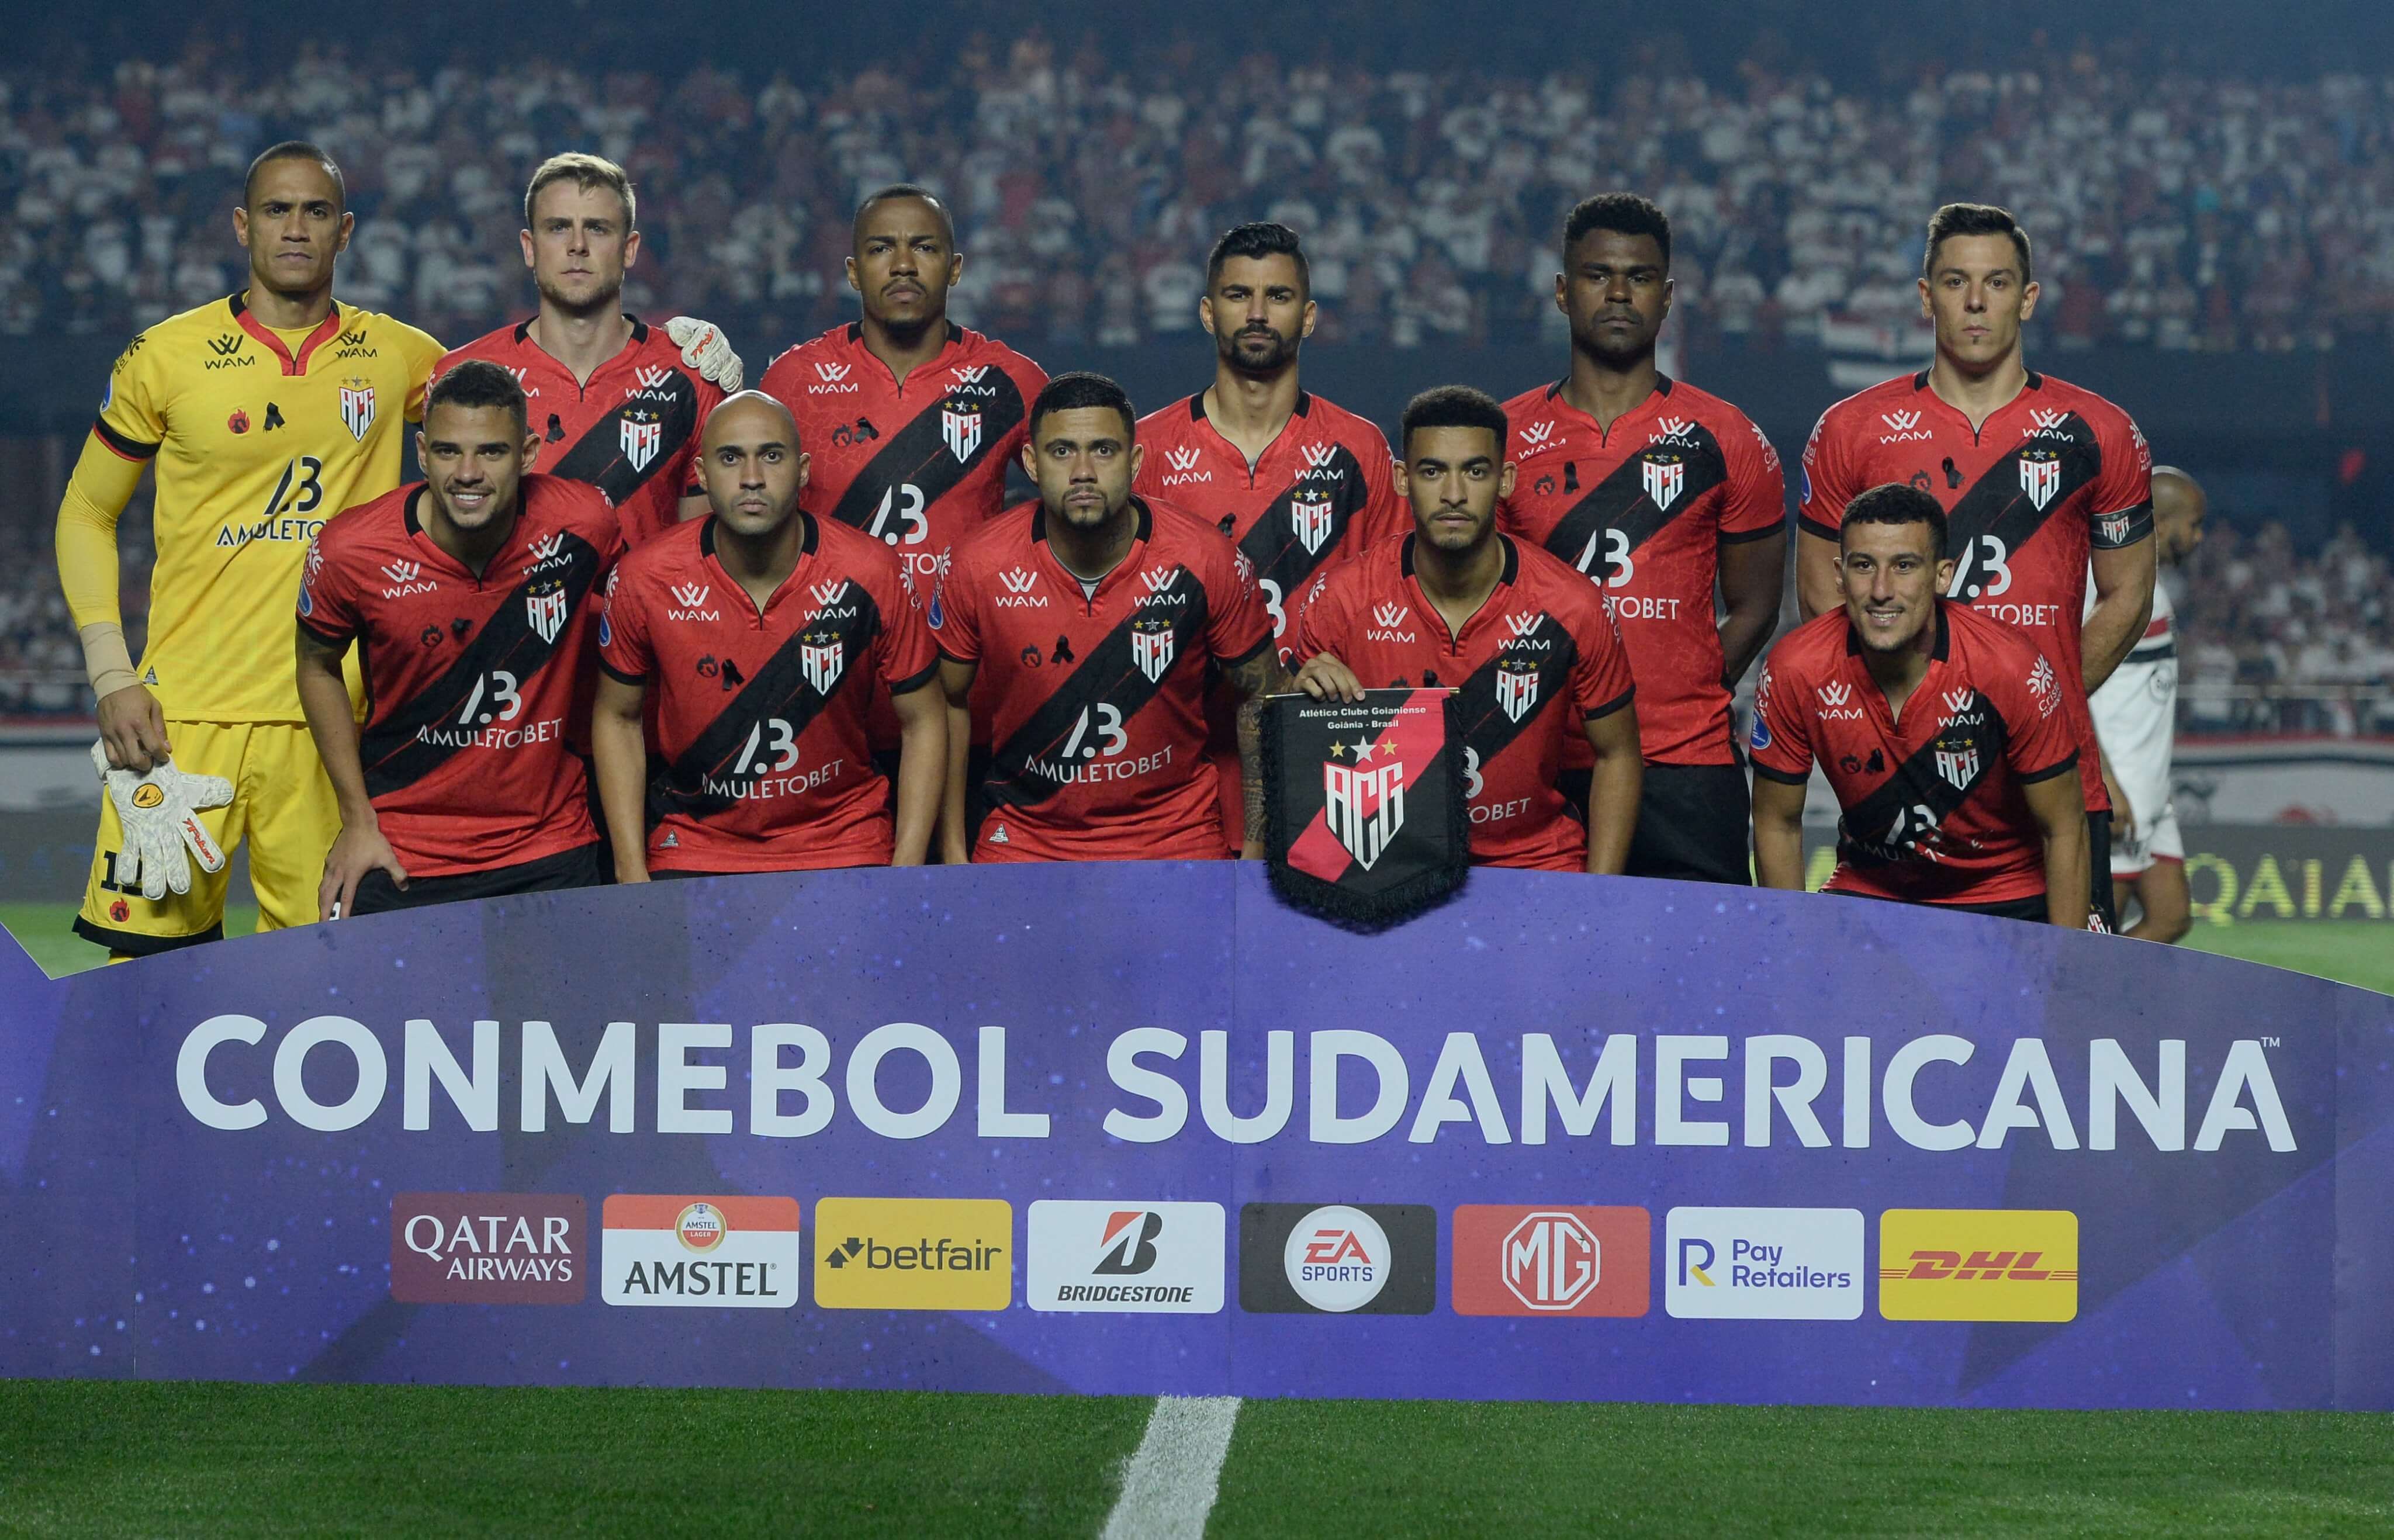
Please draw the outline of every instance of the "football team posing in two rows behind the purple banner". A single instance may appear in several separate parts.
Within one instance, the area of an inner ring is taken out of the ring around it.
[[[247,285],[124,345],[57,513],[105,786],[74,929],[223,936],[239,845],[261,929],[1254,860],[1274,697],[1432,687],[1472,862],[1803,889],[1819,778],[1829,893],[2176,939],[2157,568],[2202,491],[2023,357],[2011,213],[1920,218],[1934,354],[1824,402],[1791,517],[1772,441],[1657,362],[1671,220],[1630,192],[1556,230],[1554,381],[1424,390],[1391,443],[1302,388],[1319,309],[1281,223],[1221,232],[1187,297],[1211,383],[1132,402],[950,321],[970,230],[888,184],[852,208],[857,321],[749,381],[711,321],[625,314],[615,163],[531,170],[539,307],[448,347],[340,299],[340,168],[278,144],[230,211]],[[117,520],[151,467],[134,659]]]

